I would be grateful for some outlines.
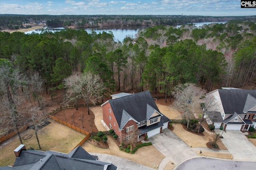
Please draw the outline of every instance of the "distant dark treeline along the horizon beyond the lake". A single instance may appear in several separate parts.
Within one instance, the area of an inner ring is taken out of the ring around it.
[[[156,25],[183,25],[186,23],[249,20],[254,16],[182,16],[182,15],[14,15],[0,14],[0,30],[19,29],[25,23],[46,23],[52,27],[93,27],[100,26],[156,26]]]

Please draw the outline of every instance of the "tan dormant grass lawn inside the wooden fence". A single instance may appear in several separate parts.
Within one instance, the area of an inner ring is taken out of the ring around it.
[[[38,132],[38,138],[41,145],[41,150],[54,150],[57,152],[69,153],[76,145],[82,141],[85,135],[74,131],[73,129],[66,127],[60,123],[50,120],[52,123],[42,128],[44,133]],[[26,149],[34,148],[39,150],[36,137],[34,135],[34,130],[24,131],[22,136],[32,133],[33,136],[30,139],[22,139],[23,144]],[[13,150],[20,145],[20,140],[18,137],[14,137],[10,143],[4,145],[0,144],[0,166],[13,165],[16,156]]]

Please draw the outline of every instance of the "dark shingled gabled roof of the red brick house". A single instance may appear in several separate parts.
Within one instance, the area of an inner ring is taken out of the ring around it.
[[[130,119],[133,119],[137,123],[149,120],[155,111],[162,116],[162,123],[170,121],[170,119],[160,113],[149,91],[123,96],[109,100],[108,102],[111,105],[120,129],[122,129]]]

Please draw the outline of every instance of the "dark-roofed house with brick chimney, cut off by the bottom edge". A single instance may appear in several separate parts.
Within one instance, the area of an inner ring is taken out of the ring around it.
[[[116,170],[108,162],[97,160],[78,146],[68,154],[47,150],[26,150],[20,145],[14,150],[16,160],[13,166],[0,166],[0,170]]]

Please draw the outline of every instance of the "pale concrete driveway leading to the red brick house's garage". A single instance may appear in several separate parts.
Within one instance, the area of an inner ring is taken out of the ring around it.
[[[190,147],[172,131],[164,129],[162,132],[163,133],[148,138],[153,146],[166,156],[160,163],[159,169],[164,169],[164,166],[170,161],[178,165],[184,160],[198,157],[198,154],[190,149]]]

